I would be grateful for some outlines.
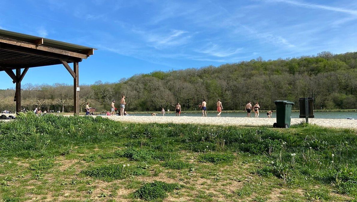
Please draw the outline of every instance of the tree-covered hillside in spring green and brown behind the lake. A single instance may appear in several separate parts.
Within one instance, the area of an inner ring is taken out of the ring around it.
[[[357,52],[268,61],[257,58],[219,67],[139,74],[117,83],[97,81],[81,86],[80,99],[82,104],[89,101],[100,110],[109,110],[111,99],[119,101],[122,94],[129,111],[172,110],[177,102],[183,110],[195,110],[202,99],[208,110],[215,110],[218,98],[225,110],[244,109],[248,100],[259,102],[262,109],[275,109],[274,100],[292,100],[298,107],[298,98],[307,96],[315,97],[315,109],[355,109]],[[22,95],[22,105],[29,109],[41,105],[68,111],[73,107],[72,86],[65,84],[27,84]],[[14,108],[13,96],[14,90],[0,91],[4,99],[1,110]]]

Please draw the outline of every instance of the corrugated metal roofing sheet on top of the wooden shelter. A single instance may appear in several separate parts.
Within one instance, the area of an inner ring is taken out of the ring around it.
[[[43,38],[43,37],[39,37],[39,36],[32,36],[32,35],[27,35],[27,34],[23,34],[23,33],[1,30],[1,29],[0,29],[0,36],[6,37],[6,38],[11,38],[14,40],[29,42],[29,43],[33,43],[35,40],[37,40],[39,38]],[[82,52],[82,51],[86,51],[89,49],[97,50],[96,48],[76,45],[73,43],[67,43],[67,42],[63,42],[63,41],[56,41],[56,40],[52,40],[49,38],[43,38],[43,39],[44,39],[43,46],[47,46],[47,47],[51,47],[51,48],[58,48],[61,50],[66,50],[66,51],[71,51],[71,52]]]

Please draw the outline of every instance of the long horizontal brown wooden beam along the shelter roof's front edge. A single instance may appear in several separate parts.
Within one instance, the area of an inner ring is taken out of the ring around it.
[[[5,37],[0,37],[0,42],[1,43],[7,43],[15,46],[21,46],[21,47],[26,47],[26,48],[32,48],[35,50],[41,50],[41,51],[46,51],[46,52],[51,52],[51,53],[57,53],[60,55],[65,55],[65,56],[71,56],[71,57],[76,57],[76,58],[82,58],[82,59],[87,59],[87,55],[81,54],[81,53],[75,53],[71,51],[65,51],[57,48],[51,48],[51,47],[46,47],[46,46],[41,46],[41,45],[34,45],[32,43],[27,43],[24,41],[18,41],[14,40],[11,38],[5,38]]]

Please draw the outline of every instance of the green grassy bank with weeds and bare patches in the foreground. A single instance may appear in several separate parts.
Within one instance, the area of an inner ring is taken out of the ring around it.
[[[0,123],[0,198],[353,201],[356,135],[22,114]]]

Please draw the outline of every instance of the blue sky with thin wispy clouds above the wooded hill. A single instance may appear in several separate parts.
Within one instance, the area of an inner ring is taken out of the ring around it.
[[[0,0],[0,5],[6,8],[0,29],[98,48],[80,63],[80,84],[259,56],[357,51],[357,1],[350,0]],[[0,89],[15,87],[6,73],[0,77]],[[36,67],[22,83],[73,79],[63,66]]]

